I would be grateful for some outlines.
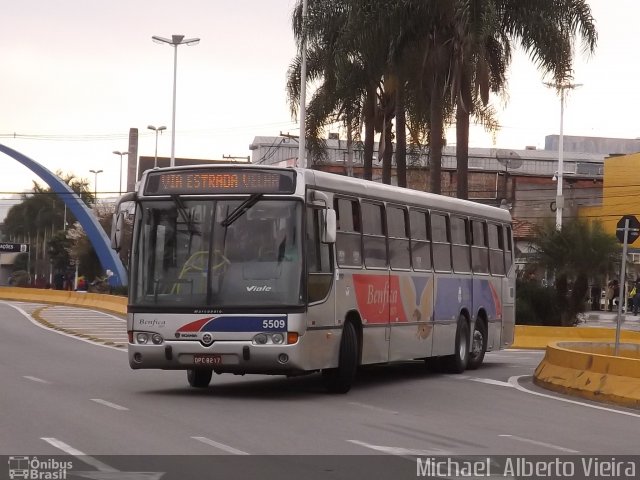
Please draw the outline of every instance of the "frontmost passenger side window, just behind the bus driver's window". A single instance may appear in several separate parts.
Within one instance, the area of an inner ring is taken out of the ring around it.
[[[336,198],[336,255],[341,267],[362,266],[360,205],[357,200]]]

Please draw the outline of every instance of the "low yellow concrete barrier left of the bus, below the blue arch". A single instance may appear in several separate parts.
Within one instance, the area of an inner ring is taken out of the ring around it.
[[[111,313],[126,315],[127,298],[101,293],[71,292],[67,290],[46,290],[41,288],[0,287],[0,298],[23,302],[54,303],[95,308]]]

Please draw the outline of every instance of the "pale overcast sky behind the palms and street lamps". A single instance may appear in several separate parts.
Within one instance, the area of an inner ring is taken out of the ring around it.
[[[576,63],[583,84],[567,101],[566,135],[636,138],[640,93],[637,0],[593,0],[598,48]],[[258,135],[298,134],[286,102],[286,72],[295,53],[294,0],[21,0],[0,28],[0,143],[52,171],[98,176],[98,191],[119,190],[119,157],[129,128],[140,155],[154,154],[147,125],[171,126],[173,48],[152,35],[198,37],[178,48],[176,156],[247,156]],[[560,102],[531,62],[514,58],[502,124],[494,138],[472,132],[472,147],[544,147],[559,133]],[[14,138],[13,135],[16,135]],[[455,142],[455,132],[449,143]],[[158,153],[169,156],[169,131]],[[3,156],[0,197],[38,180]],[[123,179],[123,183],[125,180]],[[40,182],[43,183],[43,182]],[[0,207],[7,201],[0,200]]]

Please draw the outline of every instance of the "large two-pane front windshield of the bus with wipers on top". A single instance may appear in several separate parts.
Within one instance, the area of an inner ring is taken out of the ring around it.
[[[302,203],[149,200],[139,205],[133,305],[208,308],[302,304]]]

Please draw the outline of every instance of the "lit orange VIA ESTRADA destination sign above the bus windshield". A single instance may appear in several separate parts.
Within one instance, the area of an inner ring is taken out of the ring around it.
[[[295,172],[261,169],[198,169],[152,172],[145,195],[295,192]]]

